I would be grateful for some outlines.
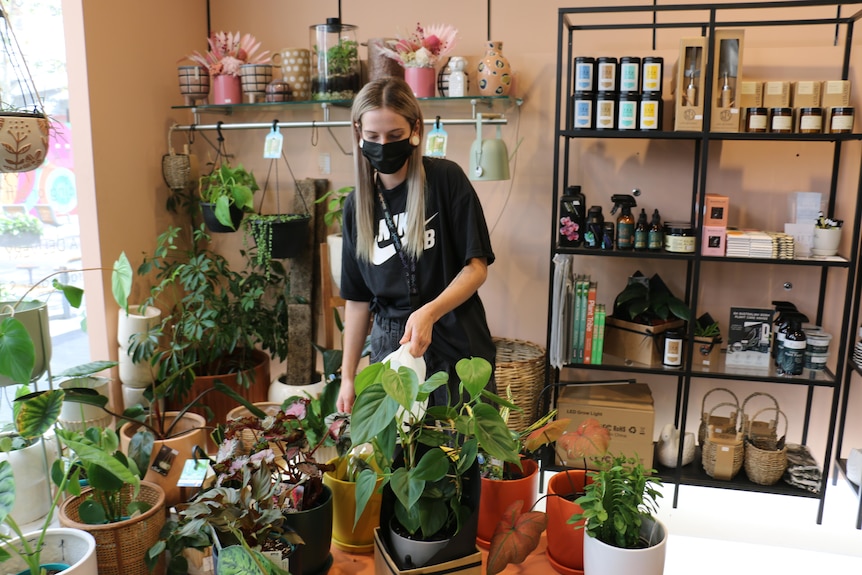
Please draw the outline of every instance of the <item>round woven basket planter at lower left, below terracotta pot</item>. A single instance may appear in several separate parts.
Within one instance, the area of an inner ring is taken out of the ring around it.
[[[144,563],[147,550],[159,540],[159,532],[165,524],[165,492],[155,483],[141,481],[137,500],[152,505],[146,513],[137,517],[106,523],[89,525],[81,523],[78,507],[92,491],[87,488],[77,497],[69,497],[60,506],[60,525],[81,529],[96,539],[96,558],[99,575],[149,575]],[[132,486],[127,486],[123,494],[123,504],[127,504],[132,494]],[[161,572],[157,567],[155,573]]]

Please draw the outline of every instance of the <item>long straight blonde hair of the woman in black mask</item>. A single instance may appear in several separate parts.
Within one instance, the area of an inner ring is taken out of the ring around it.
[[[415,129],[422,142],[425,125],[419,102],[404,80],[379,78],[363,86],[353,100],[350,119],[353,124],[353,163],[356,170],[356,255],[360,260],[371,261],[377,228],[374,221],[374,204],[377,201],[374,168],[359,150],[362,135],[362,115],[365,112],[386,108],[402,116]],[[425,244],[425,168],[422,165],[422,147],[416,146],[407,168],[407,229],[404,247],[407,253],[419,258]]]

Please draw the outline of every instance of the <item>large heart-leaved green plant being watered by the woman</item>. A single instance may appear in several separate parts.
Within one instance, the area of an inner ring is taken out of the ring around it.
[[[378,478],[395,495],[395,518],[411,534],[427,539],[439,532],[457,533],[467,509],[461,503],[463,477],[479,449],[491,457],[520,465],[512,438],[495,402],[514,408],[485,390],[491,365],[482,358],[456,364],[459,397],[452,406],[429,407],[416,402],[446,385],[445,372],[420,382],[406,367],[397,371],[375,363],[356,377],[356,402],[350,432],[356,445],[370,442],[377,469],[364,469],[356,481],[356,516],[361,516]],[[396,461],[396,443],[402,460]]]

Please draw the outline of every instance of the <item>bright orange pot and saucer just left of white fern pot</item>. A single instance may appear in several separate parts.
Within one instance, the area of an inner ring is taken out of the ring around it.
[[[567,523],[572,515],[583,509],[555,495],[565,496],[583,491],[585,477],[583,469],[571,469],[555,474],[548,481],[547,556],[551,566],[564,575],[583,575],[584,572],[584,530],[575,529],[575,525]]]

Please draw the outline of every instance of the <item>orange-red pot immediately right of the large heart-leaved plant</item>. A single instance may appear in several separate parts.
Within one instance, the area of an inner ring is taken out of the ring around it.
[[[482,478],[482,495],[479,497],[479,530],[476,533],[476,543],[487,549],[494,536],[497,523],[506,509],[515,501],[521,500],[523,512],[527,512],[536,503],[539,493],[539,466],[532,459],[521,461],[523,477],[496,481]],[[517,471],[517,467],[507,463],[506,468]]]

